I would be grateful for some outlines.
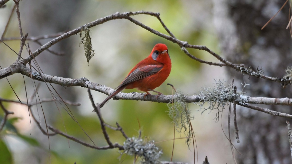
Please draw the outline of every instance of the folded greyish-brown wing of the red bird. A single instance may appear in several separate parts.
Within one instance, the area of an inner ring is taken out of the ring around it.
[[[146,65],[146,66],[137,68],[131,74],[129,74],[121,83],[121,85],[119,85],[117,88],[125,84],[131,83],[133,81],[137,81],[147,76],[150,76],[152,74],[155,74],[158,71],[160,71],[162,67],[163,65]]]

